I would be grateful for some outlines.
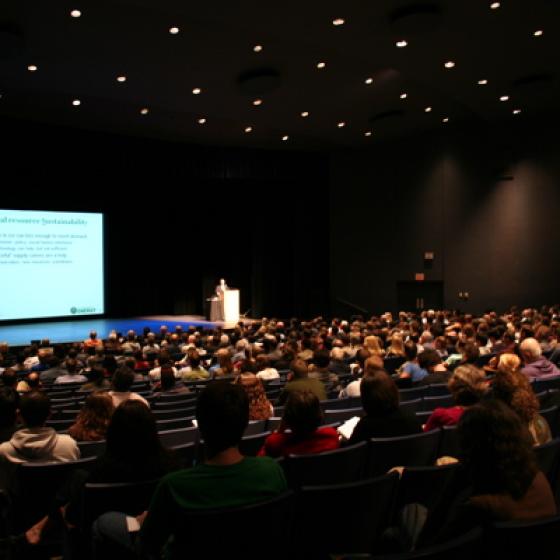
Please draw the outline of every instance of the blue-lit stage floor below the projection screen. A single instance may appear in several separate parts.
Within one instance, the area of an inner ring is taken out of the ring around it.
[[[248,319],[243,318],[243,321]],[[250,319],[248,320],[250,321]],[[51,342],[74,342],[88,338],[89,332],[97,331],[99,338],[106,338],[113,330],[126,335],[130,329],[142,334],[144,327],[150,327],[159,333],[162,325],[167,325],[170,332],[176,325],[181,325],[183,331],[189,326],[213,329],[222,327],[231,329],[235,323],[210,322],[198,315],[152,315],[148,317],[131,317],[129,319],[73,319],[69,321],[42,321],[37,323],[20,323],[13,325],[0,324],[0,342],[7,342],[10,346],[28,346],[32,340],[48,338]]]

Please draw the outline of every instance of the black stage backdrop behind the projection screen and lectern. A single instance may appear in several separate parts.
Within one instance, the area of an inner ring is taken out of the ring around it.
[[[108,315],[203,313],[220,277],[253,316],[327,308],[325,156],[0,124],[0,207],[106,213]]]

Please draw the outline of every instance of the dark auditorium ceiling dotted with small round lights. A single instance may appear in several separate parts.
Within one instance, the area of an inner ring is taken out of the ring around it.
[[[3,0],[0,114],[286,149],[548,120],[559,24],[558,0]]]

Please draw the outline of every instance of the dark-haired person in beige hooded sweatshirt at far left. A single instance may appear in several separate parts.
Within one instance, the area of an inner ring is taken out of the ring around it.
[[[11,463],[79,459],[80,450],[70,436],[57,434],[53,428],[45,426],[50,408],[48,395],[41,391],[23,395],[19,412],[25,427],[0,445],[0,458]]]

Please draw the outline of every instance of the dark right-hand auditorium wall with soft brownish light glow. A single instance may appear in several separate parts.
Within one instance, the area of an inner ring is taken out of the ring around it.
[[[415,273],[443,282],[447,307],[560,301],[556,130],[479,124],[333,155],[333,310],[397,309]]]

